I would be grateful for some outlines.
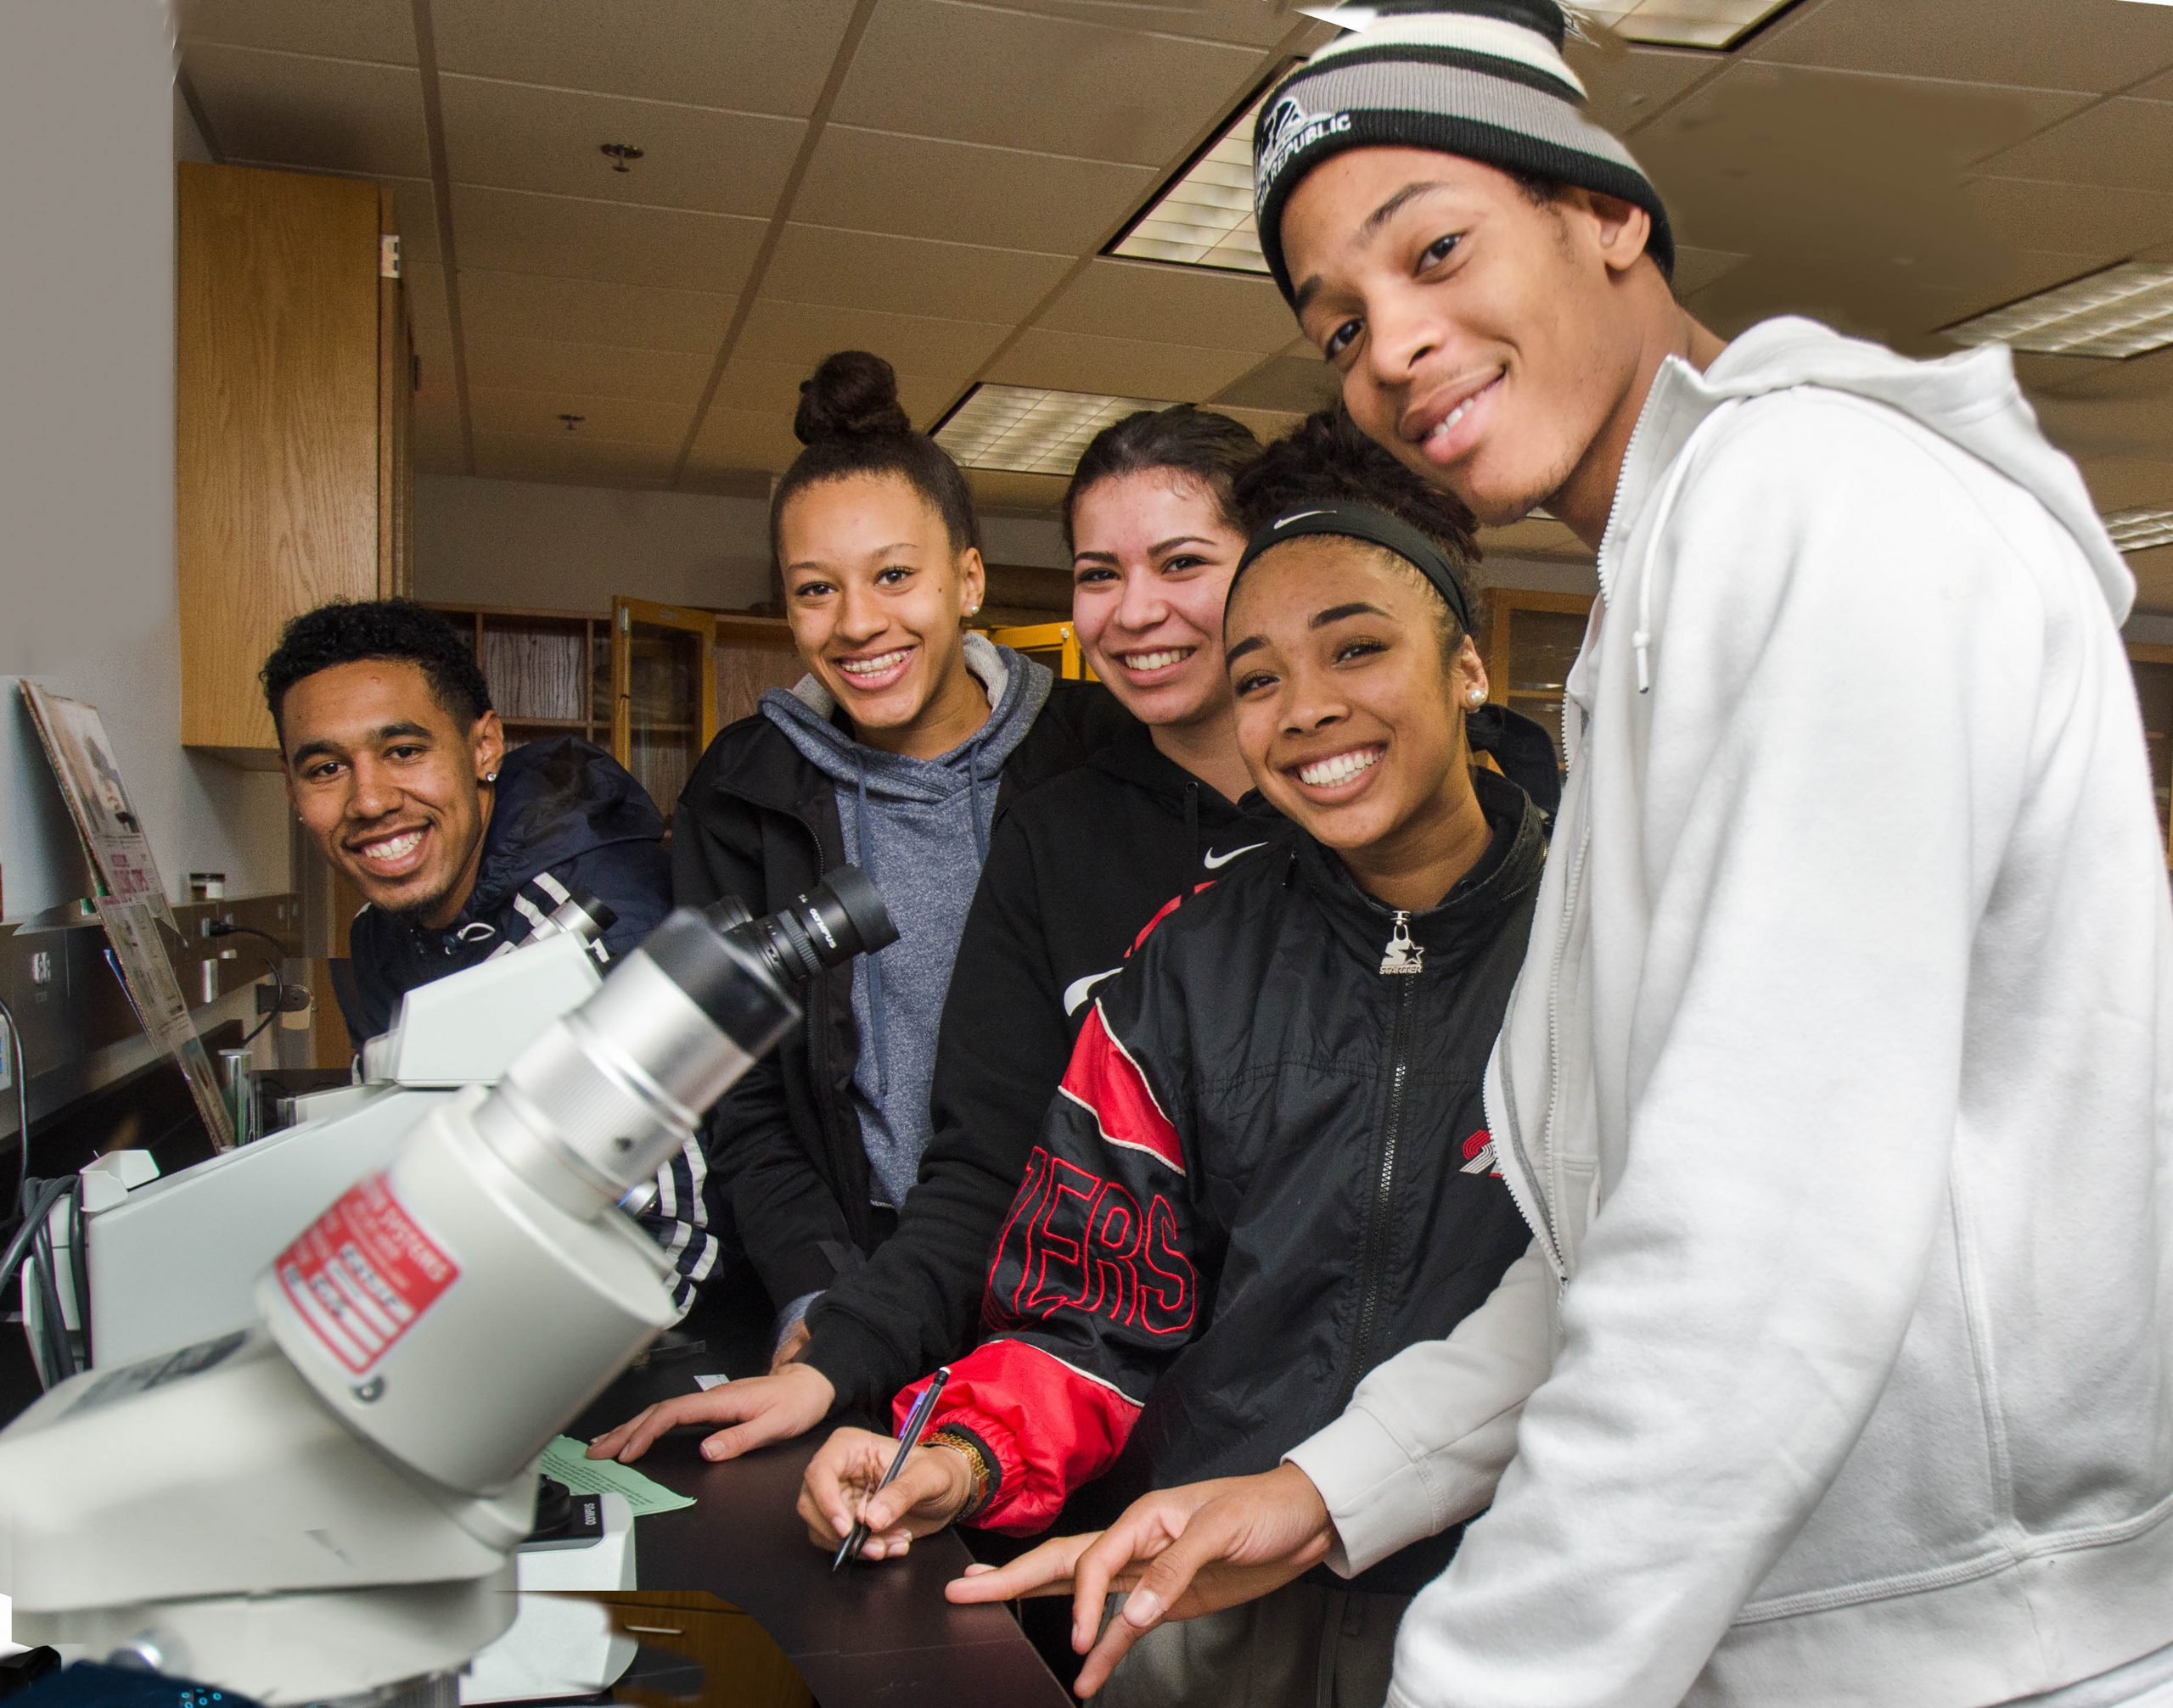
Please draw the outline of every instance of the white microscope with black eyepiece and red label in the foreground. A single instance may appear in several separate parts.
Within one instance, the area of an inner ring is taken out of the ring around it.
[[[15,1638],[274,1708],[450,1699],[513,1619],[537,1454],[674,1319],[621,1200],[806,978],[895,937],[850,867],[763,919],[674,913],[495,1084],[424,1102],[250,1321],[48,1391],[0,1432]]]

